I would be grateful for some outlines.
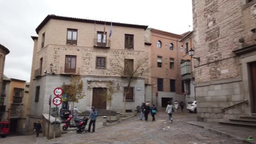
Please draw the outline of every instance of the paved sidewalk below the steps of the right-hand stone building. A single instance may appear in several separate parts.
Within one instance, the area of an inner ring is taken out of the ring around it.
[[[241,126],[231,126],[219,124],[217,122],[186,122],[190,125],[195,125],[217,133],[220,135],[225,135],[226,137],[242,140],[244,143],[256,143],[256,129],[250,127],[241,127]],[[252,136],[253,140],[246,140],[249,136]]]

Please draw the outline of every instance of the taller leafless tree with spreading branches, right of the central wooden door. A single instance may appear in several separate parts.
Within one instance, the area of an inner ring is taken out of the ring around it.
[[[110,68],[108,69],[112,74],[120,76],[127,84],[124,90],[124,107],[123,116],[126,112],[126,96],[129,94],[131,84],[139,77],[146,76],[149,67],[149,57],[137,56],[131,59],[132,55],[129,54],[114,54],[114,58],[110,60]]]

